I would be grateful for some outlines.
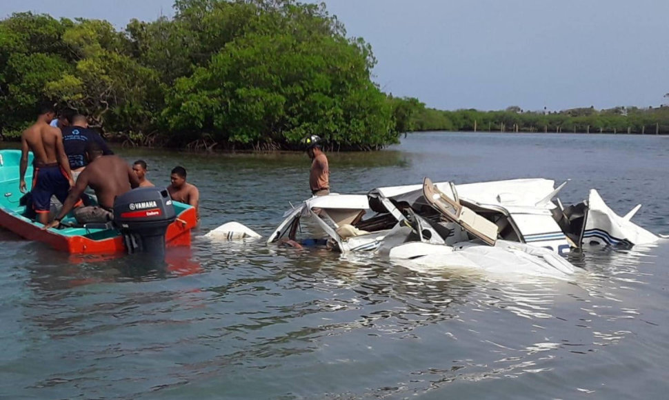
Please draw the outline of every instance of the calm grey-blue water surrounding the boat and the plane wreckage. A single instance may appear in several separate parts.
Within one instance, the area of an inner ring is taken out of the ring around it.
[[[669,243],[590,250],[573,281],[415,271],[370,257],[211,242],[267,236],[309,196],[303,154],[121,150],[200,188],[191,248],[165,274],[71,257],[0,230],[2,399],[660,399],[669,390]],[[597,188],[669,233],[669,138],[410,134],[329,154],[332,188],[546,177],[564,203]]]

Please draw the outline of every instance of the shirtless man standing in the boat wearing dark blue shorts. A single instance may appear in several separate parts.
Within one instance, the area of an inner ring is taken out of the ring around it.
[[[21,163],[19,166],[19,190],[26,192],[26,170],[28,170],[28,152],[34,157],[32,176],[32,207],[37,213],[37,221],[46,225],[49,222],[51,197],[65,201],[68,190],[74,186],[70,162],[63,149],[61,130],[49,123],[54,119],[52,106],[42,106],[39,117],[33,126],[21,134]]]

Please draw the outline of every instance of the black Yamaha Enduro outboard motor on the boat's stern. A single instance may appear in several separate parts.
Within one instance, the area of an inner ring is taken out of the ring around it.
[[[165,234],[176,218],[167,189],[137,188],[114,200],[114,224],[130,254],[144,252],[164,261]]]

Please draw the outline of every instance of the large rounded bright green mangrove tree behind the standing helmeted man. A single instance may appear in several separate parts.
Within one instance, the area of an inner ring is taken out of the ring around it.
[[[308,134],[343,148],[397,141],[386,96],[370,80],[369,47],[343,37],[321,6],[181,1],[176,19],[199,35],[201,52],[219,50],[207,63],[192,58],[199,67],[168,92],[168,130],[242,147],[294,148]]]

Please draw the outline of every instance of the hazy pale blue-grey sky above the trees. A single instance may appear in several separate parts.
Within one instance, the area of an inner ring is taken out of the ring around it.
[[[172,0],[0,0],[0,17],[172,16]],[[444,110],[669,103],[669,0],[329,0],[384,92]]]

